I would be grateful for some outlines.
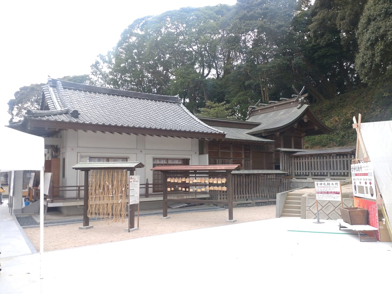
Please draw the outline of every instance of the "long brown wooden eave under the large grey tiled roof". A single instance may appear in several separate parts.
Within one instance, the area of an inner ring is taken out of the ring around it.
[[[95,125],[91,123],[70,123],[57,122],[45,120],[28,120],[26,129],[45,128],[47,132],[58,132],[60,130],[81,130],[93,132],[111,132],[111,133],[125,133],[135,135],[149,135],[149,136],[164,136],[164,137],[179,137],[192,139],[215,139],[224,140],[225,134],[213,134],[204,132],[189,132],[189,131],[175,131],[165,129],[148,129],[148,128],[134,128],[113,125]],[[37,132],[37,131],[36,131]]]

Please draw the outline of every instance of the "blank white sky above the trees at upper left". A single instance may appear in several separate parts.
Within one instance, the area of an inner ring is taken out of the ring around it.
[[[236,0],[13,0],[0,5],[0,124],[20,87],[89,74],[135,19],[180,7],[236,4]]]

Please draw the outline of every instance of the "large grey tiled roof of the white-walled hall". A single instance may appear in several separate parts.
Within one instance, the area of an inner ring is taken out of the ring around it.
[[[48,80],[43,94],[45,109],[49,110],[30,111],[29,120],[197,132],[224,138],[222,131],[191,114],[177,96],[94,87],[55,79]]]

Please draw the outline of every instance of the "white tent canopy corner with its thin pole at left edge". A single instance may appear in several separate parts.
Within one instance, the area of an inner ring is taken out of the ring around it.
[[[44,184],[44,138],[0,126],[3,139],[0,153],[0,171],[40,171]],[[44,189],[40,189],[40,260],[44,252]],[[40,262],[41,264],[41,262]],[[43,282],[40,270],[41,283]],[[42,291],[42,287],[41,287]]]

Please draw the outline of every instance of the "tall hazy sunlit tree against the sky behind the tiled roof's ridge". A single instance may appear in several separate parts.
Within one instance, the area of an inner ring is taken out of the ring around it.
[[[135,20],[113,51],[91,66],[92,74],[119,89],[179,94],[197,113],[210,99],[206,79],[219,78],[232,62],[231,51],[221,45],[229,35],[221,20],[230,10],[185,7]]]

